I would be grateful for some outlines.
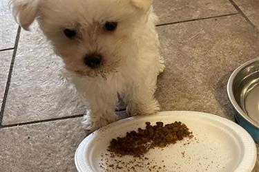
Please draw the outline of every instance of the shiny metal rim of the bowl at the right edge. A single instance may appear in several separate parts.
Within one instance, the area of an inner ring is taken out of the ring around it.
[[[250,61],[247,61],[246,63],[243,63],[242,65],[240,65],[237,69],[234,70],[234,72],[231,74],[231,76],[229,77],[229,81],[227,83],[227,94],[229,96],[229,100],[231,101],[231,104],[233,105],[234,109],[236,109],[236,111],[238,112],[238,114],[240,116],[242,116],[242,118],[244,118],[245,120],[247,120],[247,122],[249,122],[251,125],[253,125],[254,127],[257,127],[259,129],[259,124],[254,121],[252,118],[250,118],[249,116],[247,116],[247,114],[244,113],[244,111],[240,108],[240,106],[238,105],[238,103],[236,102],[236,98],[233,95],[233,80],[236,78],[236,75],[242,70],[244,69],[244,67],[247,67],[249,65],[251,65],[251,63],[255,63],[256,61],[259,62],[259,58],[253,58]]]

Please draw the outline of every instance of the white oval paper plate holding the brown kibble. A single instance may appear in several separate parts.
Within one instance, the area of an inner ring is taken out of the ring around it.
[[[153,116],[126,118],[102,127],[85,138],[75,153],[75,166],[78,171],[104,171],[104,157],[112,138],[125,136],[127,131],[145,127],[145,122],[154,125],[157,121],[164,124],[181,121],[193,132],[193,138],[187,138],[170,144],[164,149],[155,148],[146,153],[147,160],[134,163],[143,164],[135,171],[149,171],[147,162],[151,162],[152,171],[251,171],[256,163],[256,144],[239,125],[225,118],[195,111],[162,111]],[[188,144],[189,142],[189,144]],[[103,160],[102,160],[103,159]],[[134,158],[126,155],[122,158],[108,158],[108,164],[115,160],[129,162]],[[158,169],[158,166],[162,167]],[[128,171],[123,169],[109,171]],[[133,171],[133,169],[130,169]]]

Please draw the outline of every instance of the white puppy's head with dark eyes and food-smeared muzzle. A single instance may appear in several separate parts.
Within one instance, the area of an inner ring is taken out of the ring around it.
[[[22,28],[37,19],[66,69],[86,76],[115,72],[133,50],[152,0],[12,0]]]

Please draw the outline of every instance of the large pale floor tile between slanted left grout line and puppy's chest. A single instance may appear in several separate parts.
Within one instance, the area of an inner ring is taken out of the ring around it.
[[[59,78],[60,67],[37,25],[21,30],[2,125],[82,114],[84,105]]]

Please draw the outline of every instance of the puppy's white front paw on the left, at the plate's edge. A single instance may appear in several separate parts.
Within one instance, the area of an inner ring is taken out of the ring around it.
[[[111,122],[115,122],[117,116],[115,114],[105,114],[105,116],[95,116],[93,114],[86,114],[84,116],[83,127],[88,131],[95,131],[101,127],[104,127]]]

